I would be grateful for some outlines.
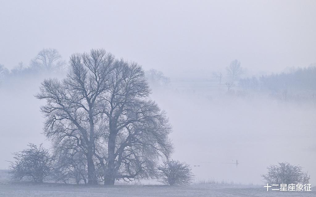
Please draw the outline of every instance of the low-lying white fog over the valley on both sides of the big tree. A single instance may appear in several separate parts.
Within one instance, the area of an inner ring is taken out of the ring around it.
[[[315,107],[266,95],[231,95],[225,85],[171,80],[168,88],[154,89],[152,98],[173,125],[173,158],[189,163],[197,179],[260,184],[267,166],[289,162],[304,167],[316,183]],[[40,81],[2,87],[0,169],[8,168],[11,153],[29,142],[50,146],[41,134],[41,102],[33,96]]]

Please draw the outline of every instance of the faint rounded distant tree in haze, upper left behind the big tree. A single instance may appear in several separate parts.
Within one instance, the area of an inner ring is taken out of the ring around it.
[[[30,69],[44,72],[60,72],[65,69],[65,61],[56,49],[44,48],[31,61]]]

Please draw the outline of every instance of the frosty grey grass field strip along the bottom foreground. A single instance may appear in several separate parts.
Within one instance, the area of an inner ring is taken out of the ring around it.
[[[313,189],[312,189],[313,190]],[[316,196],[316,192],[267,192],[263,187],[243,186],[243,185],[191,185],[191,186],[111,186],[111,187],[86,187],[62,184],[26,185],[10,184],[0,185],[0,196],[58,196],[58,197],[80,197],[80,196]]]

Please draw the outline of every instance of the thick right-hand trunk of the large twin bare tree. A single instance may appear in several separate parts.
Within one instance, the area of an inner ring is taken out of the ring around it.
[[[108,142],[108,165],[104,177],[104,185],[114,185],[115,168],[114,168],[114,151],[115,151],[115,135],[110,133]]]

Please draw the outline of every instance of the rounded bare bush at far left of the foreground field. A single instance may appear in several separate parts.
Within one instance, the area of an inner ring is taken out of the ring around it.
[[[13,153],[15,162],[10,170],[15,180],[33,180],[42,183],[52,171],[52,157],[42,144],[28,144],[28,149]]]

